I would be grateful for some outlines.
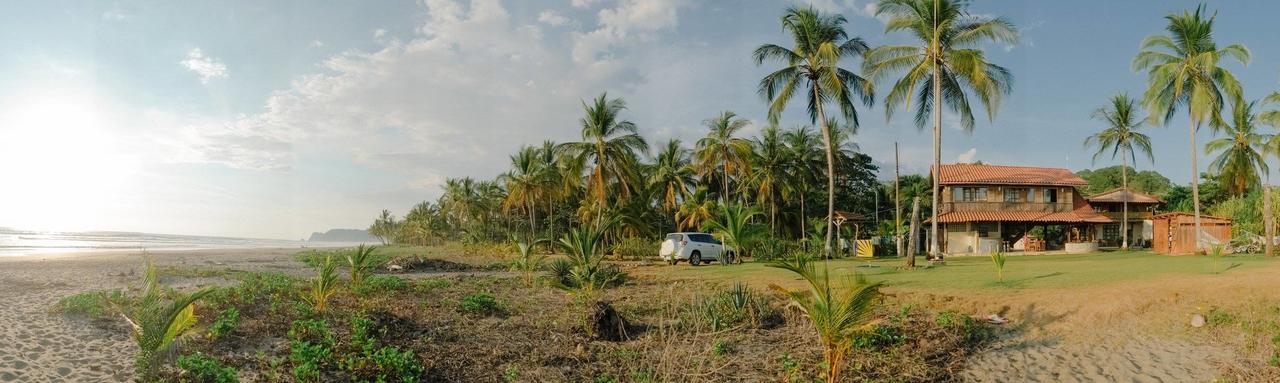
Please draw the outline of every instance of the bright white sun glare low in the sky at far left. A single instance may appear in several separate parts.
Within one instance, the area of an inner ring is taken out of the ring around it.
[[[134,173],[92,91],[40,87],[0,105],[0,225],[108,223]],[[127,199],[125,199],[127,200]]]

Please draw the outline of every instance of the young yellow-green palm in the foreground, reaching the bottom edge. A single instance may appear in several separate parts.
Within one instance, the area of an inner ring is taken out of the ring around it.
[[[845,284],[835,286],[826,266],[819,273],[805,255],[769,266],[790,270],[809,284],[808,291],[787,291],[777,284],[769,287],[787,295],[813,322],[823,350],[827,382],[838,382],[840,369],[854,339],[876,327],[879,284],[867,283],[860,275],[855,275]]]

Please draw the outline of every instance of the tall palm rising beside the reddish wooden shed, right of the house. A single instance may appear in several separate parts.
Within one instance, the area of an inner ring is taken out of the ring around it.
[[[1196,12],[1170,14],[1165,19],[1167,35],[1152,35],[1142,41],[1142,51],[1133,58],[1134,70],[1147,70],[1147,91],[1143,104],[1152,119],[1169,124],[1185,108],[1190,123],[1192,204],[1196,213],[1196,246],[1201,246],[1199,219],[1199,165],[1197,165],[1196,131],[1206,122],[1216,126],[1222,120],[1226,101],[1240,102],[1243,91],[1231,72],[1219,67],[1224,58],[1243,64],[1249,61],[1249,50],[1243,45],[1219,49],[1213,41],[1213,19],[1206,15],[1204,5]],[[1228,100],[1230,99],[1230,100]]]

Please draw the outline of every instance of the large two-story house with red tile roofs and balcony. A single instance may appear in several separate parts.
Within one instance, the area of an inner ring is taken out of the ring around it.
[[[938,224],[946,254],[1088,252],[1111,218],[1094,211],[1068,169],[950,164],[941,170]]]

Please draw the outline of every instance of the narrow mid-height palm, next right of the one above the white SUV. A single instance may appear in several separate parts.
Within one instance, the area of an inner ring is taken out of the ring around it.
[[[751,178],[755,200],[769,205],[769,232],[777,234],[778,197],[787,188],[787,146],[778,127],[764,128],[751,141]]]

